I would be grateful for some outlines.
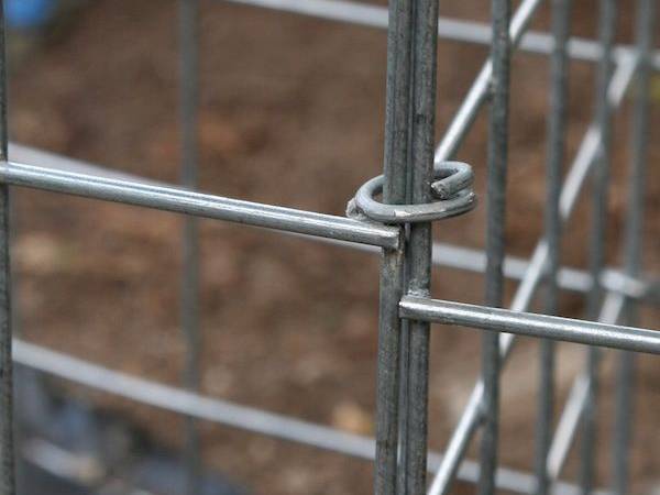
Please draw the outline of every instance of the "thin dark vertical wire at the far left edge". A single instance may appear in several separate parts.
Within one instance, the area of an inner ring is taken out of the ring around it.
[[[0,162],[7,162],[7,46],[2,0],[0,30]],[[15,494],[9,218],[9,186],[0,184],[0,495]]]

